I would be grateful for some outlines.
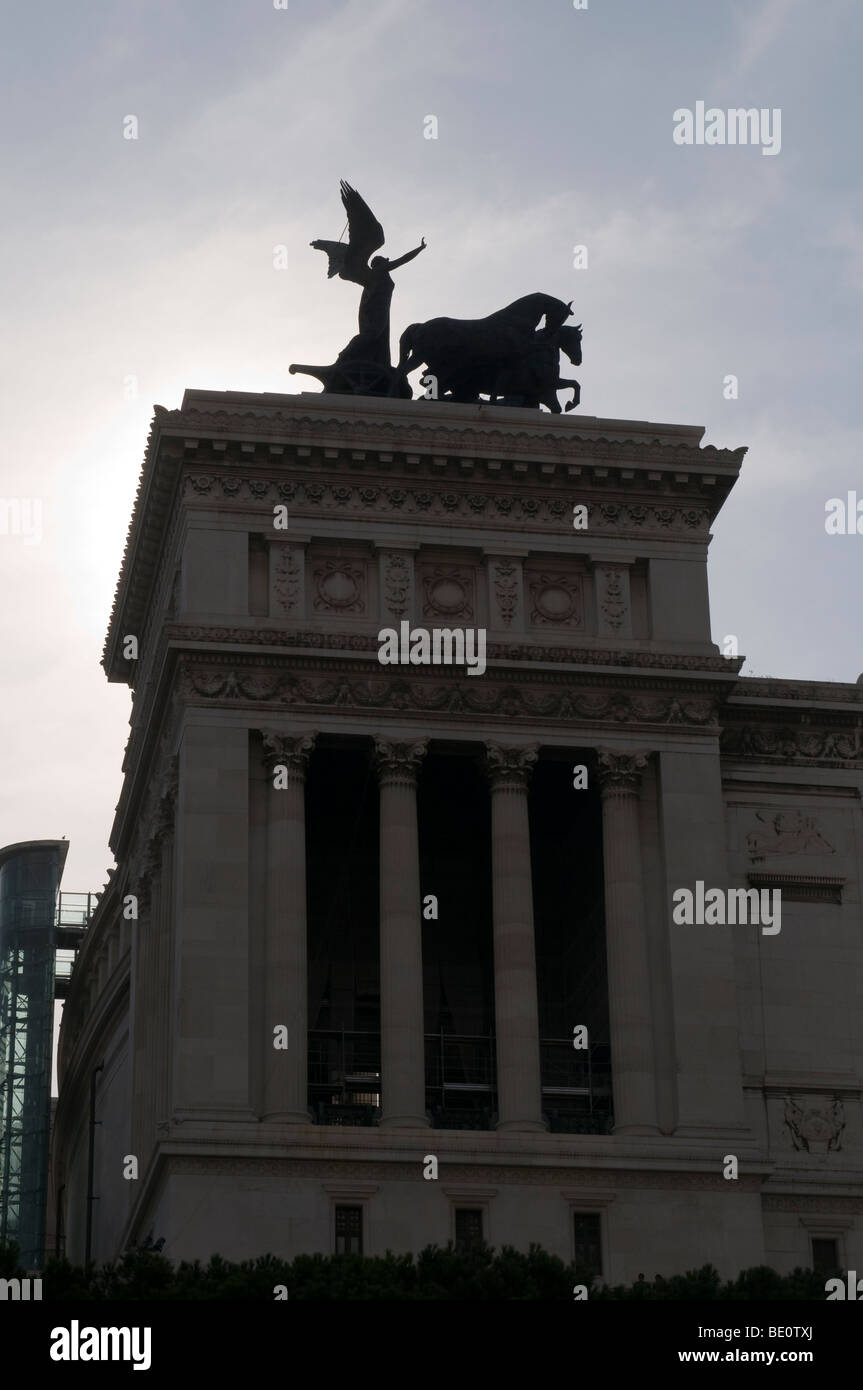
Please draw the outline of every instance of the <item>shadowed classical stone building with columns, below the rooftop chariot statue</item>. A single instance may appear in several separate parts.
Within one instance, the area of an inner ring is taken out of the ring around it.
[[[117,870],[60,1044],[71,1258],[89,1226],[99,1259],[863,1266],[863,688],[713,642],[745,450],[702,435],[157,407],[104,655]]]

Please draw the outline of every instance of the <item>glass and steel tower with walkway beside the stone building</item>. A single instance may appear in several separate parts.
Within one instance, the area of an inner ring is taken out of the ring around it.
[[[26,1269],[44,1259],[54,997],[96,903],[58,892],[67,849],[0,849],[0,1243],[14,1241]]]

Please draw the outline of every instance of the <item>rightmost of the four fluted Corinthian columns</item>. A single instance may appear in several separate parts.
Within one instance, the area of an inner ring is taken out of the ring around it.
[[[643,753],[599,751],[616,1134],[656,1134],[656,1079],[638,791]]]

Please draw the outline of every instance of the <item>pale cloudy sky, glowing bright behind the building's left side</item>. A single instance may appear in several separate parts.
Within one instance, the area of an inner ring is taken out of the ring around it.
[[[863,534],[824,524],[863,500],[859,0],[40,0],[0,50],[0,845],[65,835],[64,888],[103,887],[131,702],[100,656],[153,404],[317,389],[289,363],[356,332],[309,246],[340,178],[389,256],[428,242],[393,345],[573,299],[578,413],[748,445],[714,641],[745,674],[863,671]],[[677,143],[699,101],[763,108],[775,153]]]

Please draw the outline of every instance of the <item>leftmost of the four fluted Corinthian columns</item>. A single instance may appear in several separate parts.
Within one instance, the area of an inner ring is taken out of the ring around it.
[[[306,769],[314,734],[263,730],[267,802],[264,1119],[309,1123],[306,966]],[[274,1048],[274,1029],[288,1048]]]

